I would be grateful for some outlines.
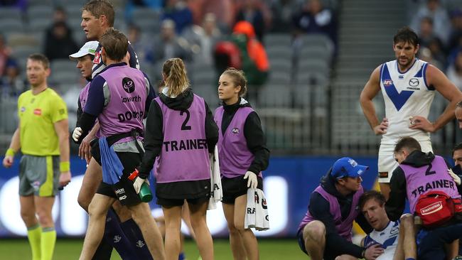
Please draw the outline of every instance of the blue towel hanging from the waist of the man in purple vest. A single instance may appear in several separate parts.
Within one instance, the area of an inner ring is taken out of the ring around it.
[[[114,152],[114,148],[107,145],[106,137],[100,138],[99,143],[102,164],[102,181],[108,184],[118,183],[122,177],[124,166],[122,166],[117,153]]]

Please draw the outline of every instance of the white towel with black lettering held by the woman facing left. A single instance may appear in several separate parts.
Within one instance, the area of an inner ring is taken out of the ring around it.
[[[269,229],[269,215],[267,199],[264,197],[263,190],[247,189],[247,213],[245,214],[244,227],[253,227],[256,230]]]

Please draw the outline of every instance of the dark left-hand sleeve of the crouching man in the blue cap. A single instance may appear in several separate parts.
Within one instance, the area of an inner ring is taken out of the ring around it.
[[[324,226],[326,226],[326,249],[337,251],[341,254],[350,254],[358,258],[362,257],[362,247],[358,247],[340,237],[337,229],[335,229],[335,222],[331,214],[329,202],[319,193],[311,194],[308,210],[311,216],[323,222]]]

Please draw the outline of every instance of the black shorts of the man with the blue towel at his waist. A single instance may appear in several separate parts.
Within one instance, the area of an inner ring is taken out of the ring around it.
[[[99,146],[97,149],[92,147],[92,156],[95,158],[97,163],[101,165],[99,152]],[[128,152],[116,153],[120,162],[122,163],[122,166],[124,166],[124,170],[122,171],[122,178],[118,183],[113,185],[101,182],[100,187],[98,187],[96,193],[106,195],[108,197],[114,197],[118,199],[122,205],[137,205],[141,202],[141,199],[133,188],[133,181],[129,180],[128,178],[130,173],[132,173],[136,167],[139,167],[142,160],[141,155],[139,153]]]

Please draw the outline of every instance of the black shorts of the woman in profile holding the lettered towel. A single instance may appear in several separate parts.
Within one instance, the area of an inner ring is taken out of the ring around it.
[[[257,188],[263,189],[263,179],[257,175]],[[244,175],[237,176],[235,178],[221,178],[221,186],[223,190],[222,203],[235,204],[236,197],[247,194],[247,179]]]

